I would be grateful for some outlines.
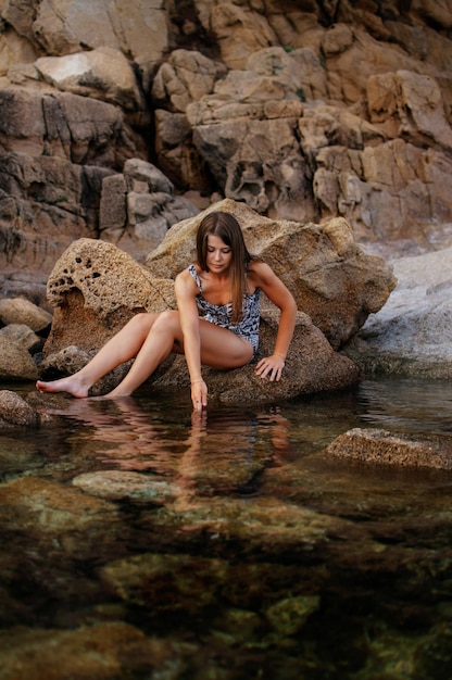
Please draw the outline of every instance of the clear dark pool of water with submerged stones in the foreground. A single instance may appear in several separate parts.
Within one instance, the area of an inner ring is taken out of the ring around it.
[[[0,680],[449,680],[452,473],[325,446],[447,439],[451,404],[399,379],[202,418],[49,398],[0,433]]]

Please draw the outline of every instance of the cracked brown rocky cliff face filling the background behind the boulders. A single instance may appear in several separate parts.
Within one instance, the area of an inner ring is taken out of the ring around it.
[[[450,245],[451,0],[2,0],[0,266],[146,256],[212,200]]]

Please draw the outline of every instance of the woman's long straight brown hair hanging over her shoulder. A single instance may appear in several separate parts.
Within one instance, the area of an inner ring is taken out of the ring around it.
[[[233,320],[240,320],[243,307],[243,295],[247,290],[246,273],[252,255],[244,244],[243,234],[237,219],[230,213],[212,212],[202,219],[197,232],[198,264],[204,272],[208,267],[208,237],[212,234],[226,243],[231,250],[230,284],[233,294]]]

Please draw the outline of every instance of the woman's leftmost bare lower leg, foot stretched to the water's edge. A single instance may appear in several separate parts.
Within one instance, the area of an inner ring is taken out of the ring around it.
[[[73,396],[87,396],[89,388],[99,378],[139,352],[156,317],[158,314],[137,314],[80,370],[50,382],[38,380],[37,389],[40,392],[68,392]]]

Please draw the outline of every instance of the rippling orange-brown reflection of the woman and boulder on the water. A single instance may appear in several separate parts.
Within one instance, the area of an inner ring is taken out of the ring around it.
[[[190,414],[184,405],[181,416],[167,419],[134,396],[72,400],[64,411],[53,410],[89,426],[84,437],[98,442],[97,461],[172,479],[187,498],[193,492],[255,492],[262,470],[280,464],[288,452],[290,423],[279,412],[222,408]]]

